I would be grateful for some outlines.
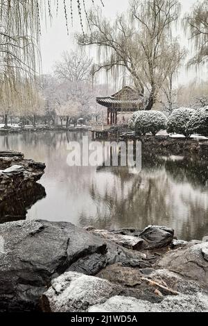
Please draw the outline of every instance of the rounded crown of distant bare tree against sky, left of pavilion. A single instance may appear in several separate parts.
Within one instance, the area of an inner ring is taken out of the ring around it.
[[[71,83],[89,81],[92,68],[92,59],[78,51],[65,51],[62,53],[62,60],[55,62],[55,76],[59,80],[67,80]]]

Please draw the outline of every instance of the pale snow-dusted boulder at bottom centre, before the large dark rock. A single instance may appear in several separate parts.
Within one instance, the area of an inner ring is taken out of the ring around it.
[[[42,309],[53,312],[83,312],[119,292],[120,287],[107,280],[67,272],[52,280],[51,287],[42,295]]]

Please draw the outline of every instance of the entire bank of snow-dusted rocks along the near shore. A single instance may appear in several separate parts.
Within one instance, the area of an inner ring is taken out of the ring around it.
[[[208,311],[208,243],[154,225],[3,223],[0,311]]]

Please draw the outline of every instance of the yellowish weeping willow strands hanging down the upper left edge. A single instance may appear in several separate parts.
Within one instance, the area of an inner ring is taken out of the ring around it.
[[[103,4],[102,0],[98,1]],[[21,87],[26,85],[28,98],[31,96],[41,67],[41,18],[52,19],[54,8],[55,12],[62,8],[69,32],[68,19],[69,16],[73,19],[73,5],[83,29],[83,15],[87,14],[85,0],[0,0],[0,101],[3,107],[7,103],[5,96],[17,105],[21,101]],[[7,124],[7,113],[4,115]]]

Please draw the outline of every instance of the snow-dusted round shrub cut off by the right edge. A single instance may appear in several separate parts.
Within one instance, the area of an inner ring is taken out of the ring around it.
[[[191,133],[208,136],[208,106],[196,110],[191,116],[189,130]]]

